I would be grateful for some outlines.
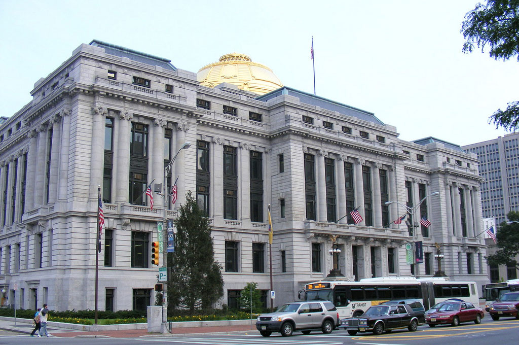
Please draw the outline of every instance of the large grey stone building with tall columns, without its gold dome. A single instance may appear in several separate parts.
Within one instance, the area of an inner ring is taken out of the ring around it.
[[[175,218],[187,191],[212,225],[220,305],[235,307],[247,282],[266,299],[270,265],[276,306],[327,276],[433,276],[434,244],[451,280],[487,282],[481,178],[457,145],[403,141],[373,113],[289,87],[200,86],[167,59],[99,41],[31,94],[0,127],[0,287],[17,308],[94,308],[98,185],[100,309],[153,303],[157,221]],[[176,182],[179,200],[154,193],[152,208],[144,192],[176,152],[166,187]],[[411,222],[395,223],[407,209]],[[424,251],[415,270],[404,249],[414,241]]]

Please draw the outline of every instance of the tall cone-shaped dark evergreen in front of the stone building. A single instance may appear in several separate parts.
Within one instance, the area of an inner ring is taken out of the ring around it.
[[[175,251],[171,255],[168,304],[171,308],[211,308],[223,296],[222,266],[214,261],[209,219],[189,191],[174,220]]]

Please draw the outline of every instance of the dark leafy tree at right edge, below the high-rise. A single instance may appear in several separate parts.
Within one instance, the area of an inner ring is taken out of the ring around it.
[[[519,212],[510,211],[509,221],[519,222]],[[507,224],[502,222],[496,234],[496,243],[499,248],[496,254],[487,256],[489,264],[510,264],[519,269],[517,255],[519,255],[519,223]]]

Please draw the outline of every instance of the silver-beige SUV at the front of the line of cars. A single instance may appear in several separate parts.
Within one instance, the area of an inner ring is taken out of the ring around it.
[[[304,301],[283,304],[275,313],[261,314],[256,321],[256,328],[264,337],[272,332],[280,332],[289,337],[294,330],[309,334],[312,329],[321,329],[322,333],[332,333],[339,325],[339,313],[330,301]]]

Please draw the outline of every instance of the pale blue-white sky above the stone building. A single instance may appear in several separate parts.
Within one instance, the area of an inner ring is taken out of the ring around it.
[[[197,72],[230,52],[267,65],[285,86],[375,113],[400,138],[459,145],[506,134],[488,117],[519,100],[519,62],[461,52],[477,1],[0,0],[1,116],[92,39]]]

